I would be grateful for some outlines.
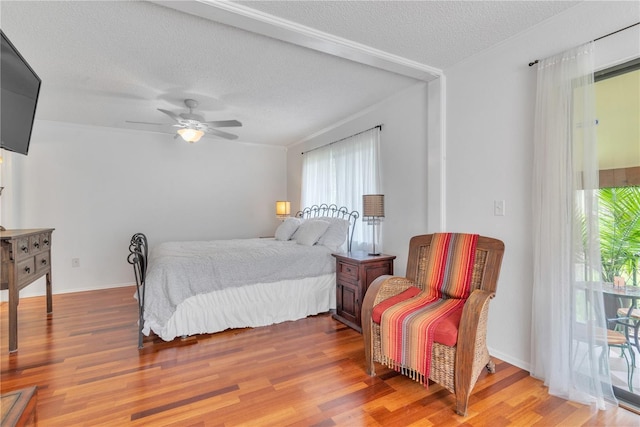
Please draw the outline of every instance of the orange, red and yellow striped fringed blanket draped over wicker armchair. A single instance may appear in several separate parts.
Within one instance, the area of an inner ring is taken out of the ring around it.
[[[427,288],[382,313],[382,361],[428,385],[438,323],[469,296],[478,235],[434,234],[426,266]]]

